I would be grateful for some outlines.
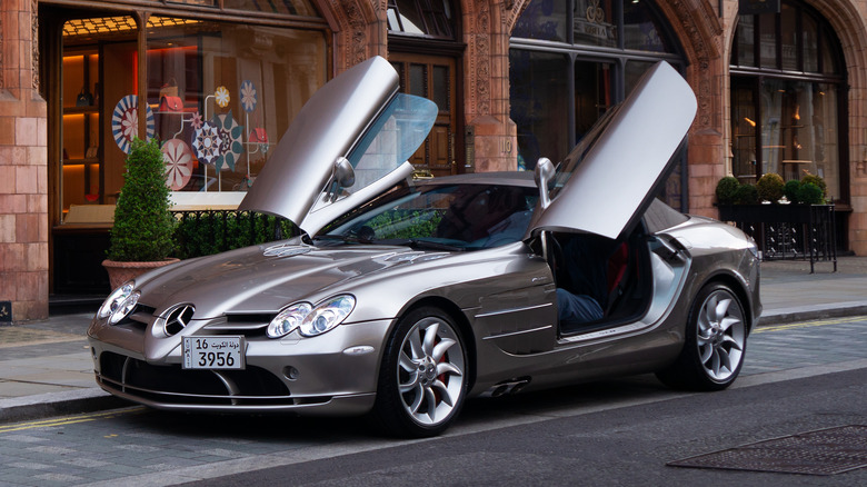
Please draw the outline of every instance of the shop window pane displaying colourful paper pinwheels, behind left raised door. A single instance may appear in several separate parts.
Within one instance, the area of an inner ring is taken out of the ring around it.
[[[316,31],[223,22],[148,30],[148,105],[173,191],[245,191],[325,83]]]

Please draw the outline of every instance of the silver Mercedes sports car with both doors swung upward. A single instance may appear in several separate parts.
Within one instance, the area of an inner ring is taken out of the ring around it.
[[[695,111],[659,63],[556,166],[413,180],[437,107],[362,62],[241,203],[301,236],[116,289],[88,330],[97,381],[155,408],[368,414],[405,436],[444,431],[469,397],[599,377],[722,389],[761,311],[756,246],[652,198]]]

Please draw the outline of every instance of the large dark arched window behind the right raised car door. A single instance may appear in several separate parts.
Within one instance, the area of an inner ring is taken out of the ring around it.
[[[509,49],[519,169],[534,169],[539,157],[558,163],[656,62],[682,66],[660,19],[646,1],[534,0],[527,6]],[[666,185],[664,197],[676,208],[686,200],[684,175],[676,170],[678,180]]]

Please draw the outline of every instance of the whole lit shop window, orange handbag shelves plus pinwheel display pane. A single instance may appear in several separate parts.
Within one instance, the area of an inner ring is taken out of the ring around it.
[[[279,4],[278,13],[306,6]],[[131,16],[74,19],[63,32],[63,221],[74,206],[117,201],[136,136],[160,140],[177,203],[237,205],[295,115],[326,81],[320,29],[155,16],[147,23],[143,63]],[[146,101],[140,130],[139,97]]]

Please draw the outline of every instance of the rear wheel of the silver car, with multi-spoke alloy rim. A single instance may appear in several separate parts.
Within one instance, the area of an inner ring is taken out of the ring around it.
[[[744,306],[721,284],[701,288],[690,307],[680,356],[657,372],[667,386],[688,390],[722,390],[740,374],[747,351]]]

